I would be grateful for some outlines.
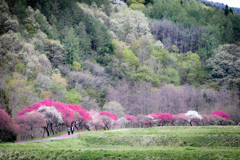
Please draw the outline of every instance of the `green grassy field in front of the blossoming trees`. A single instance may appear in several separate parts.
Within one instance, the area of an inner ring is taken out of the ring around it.
[[[239,159],[240,127],[156,127],[0,144],[0,159]]]

